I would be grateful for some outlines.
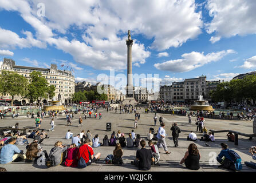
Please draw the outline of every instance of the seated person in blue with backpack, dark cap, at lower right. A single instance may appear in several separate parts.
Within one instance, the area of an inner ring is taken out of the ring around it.
[[[241,170],[241,157],[234,152],[234,150],[229,149],[227,144],[221,143],[220,146],[222,147],[222,150],[216,157],[216,160],[221,164],[218,168],[225,168],[233,171]]]

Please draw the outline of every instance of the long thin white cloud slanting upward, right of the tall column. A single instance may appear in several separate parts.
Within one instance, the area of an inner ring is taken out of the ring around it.
[[[172,72],[186,72],[197,67],[201,67],[209,62],[216,62],[225,57],[227,54],[235,53],[234,50],[223,50],[219,52],[212,52],[204,55],[204,53],[199,53],[192,51],[191,53],[185,53],[182,55],[182,58],[166,61],[163,63],[155,63],[156,69],[159,70],[168,70]]]

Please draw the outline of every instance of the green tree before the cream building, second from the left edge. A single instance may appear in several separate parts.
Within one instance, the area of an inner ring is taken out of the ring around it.
[[[54,86],[50,86],[45,77],[39,71],[33,71],[30,74],[30,84],[28,86],[27,98],[32,101],[37,101],[43,98],[51,98],[55,95],[53,89]]]

